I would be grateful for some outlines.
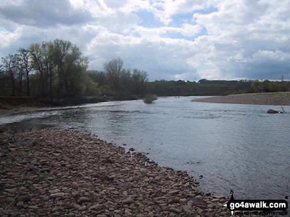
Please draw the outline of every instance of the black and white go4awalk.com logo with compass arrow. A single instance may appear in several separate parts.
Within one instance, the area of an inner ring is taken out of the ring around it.
[[[235,211],[242,211],[242,215],[287,215],[288,202],[286,200],[236,200],[232,189],[231,194],[231,199],[224,206],[231,211],[232,215]],[[286,196],[285,199],[288,197]]]

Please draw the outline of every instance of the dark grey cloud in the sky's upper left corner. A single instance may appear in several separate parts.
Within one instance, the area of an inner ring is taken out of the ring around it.
[[[1,19],[46,28],[62,25],[75,25],[92,21],[86,8],[76,8],[69,0],[18,0],[0,2]]]

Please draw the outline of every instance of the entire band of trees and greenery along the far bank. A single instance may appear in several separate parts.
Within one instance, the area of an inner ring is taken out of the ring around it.
[[[34,97],[50,102],[81,98],[127,100],[144,98],[147,93],[189,96],[290,90],[290,82],[283,80],[149,82],[146,71],[124,68],[120,58],[106,62],[104,71],[87,70],[88,60],[80,49],[70,41],[60,39],[20,48],[16,54],[2,58],[1,63],[0,96]],[[144,101],[152,102],[155,98],[148,94]]]

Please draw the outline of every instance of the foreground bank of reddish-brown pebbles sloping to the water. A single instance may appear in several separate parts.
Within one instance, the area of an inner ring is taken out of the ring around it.
[[[64,130],[0,134],[0,216],[230,216],[186,172]]]

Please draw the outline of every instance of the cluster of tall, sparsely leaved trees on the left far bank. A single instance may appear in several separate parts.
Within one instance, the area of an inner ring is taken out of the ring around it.
[[[125,69],[113,59],[105,72],[87,70],[88,60],[70,41],[55,39],[33,43],[1,59],[0,95],[32,96],[50,101],[78,96],[108,96],[115,99],[141,97],[148,74]]]

